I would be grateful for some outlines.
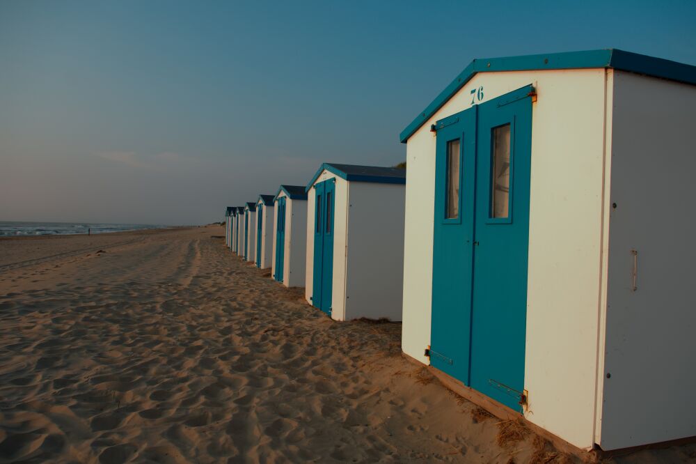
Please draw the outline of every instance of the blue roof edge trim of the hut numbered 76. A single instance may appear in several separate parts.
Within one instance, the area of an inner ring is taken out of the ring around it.
[[[506,58],[475,59],[445,87],[418,116],[407,125],[399,138],[402,143],[431,118],[479,72],[532,71],[553,69],[614,68],[653,77],[662,77],[686,84],[696,84],[696,66],[653,56],[624,52],[619,49],[587,50],[541,55],[508,56]]]

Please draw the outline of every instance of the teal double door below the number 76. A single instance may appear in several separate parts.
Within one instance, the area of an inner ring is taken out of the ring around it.
[[[436,123],[430,359],[521,411],[531,86]]]

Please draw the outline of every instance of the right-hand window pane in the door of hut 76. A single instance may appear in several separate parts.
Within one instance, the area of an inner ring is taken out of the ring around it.
[[[491,216],[508,217],[510,200],[510,125],[493,129]]]

